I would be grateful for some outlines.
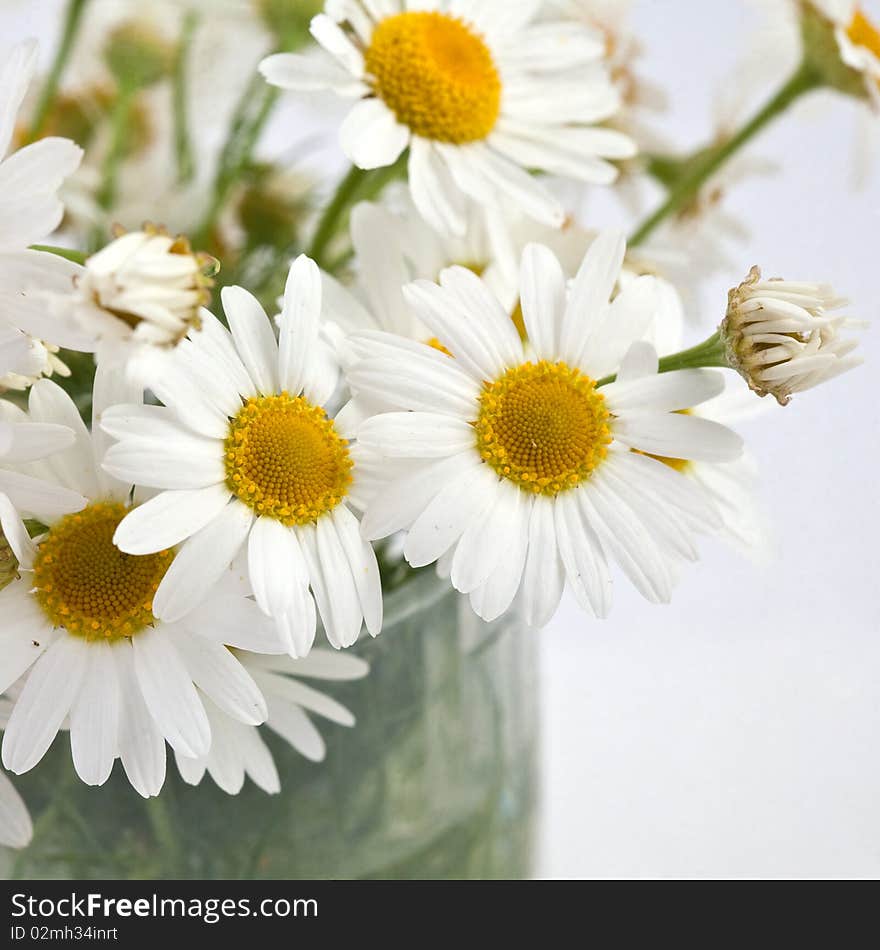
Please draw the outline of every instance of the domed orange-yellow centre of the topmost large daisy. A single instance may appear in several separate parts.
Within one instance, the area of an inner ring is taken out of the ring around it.
[[[413,134],[462,145],[486,138],[501,111],[501,78],[483,38],[457,17],[399,13],[364,54],[373,91]]]

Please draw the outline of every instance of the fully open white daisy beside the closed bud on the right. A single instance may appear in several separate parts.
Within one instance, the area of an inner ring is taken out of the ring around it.
[[[359,445],[404,466],[369,501],[363,534],[407,531],[409,563],[439,560],[486,620],[521,591],[528,622],[543,624],[566,580],[585,609],[606,616],[609,557],[645,597],[666,602],[675,561],[696,556],[692,529],[717,527],[691,482],[629,451],[727,461],[741,442],[677,412],[716,395],[719,374],[632,372],[625,355],[654,319],[657,288],[642,277],[609,304],[625,250],[622,237],[601,234],[566,293],[553,254],[526,249],[533,358],[485,284],[460,267],[439,287],[406,291],[454,358],[388,334],[355,337],[363,359],[348,374],[352,390],[399,410],[364,423]]]

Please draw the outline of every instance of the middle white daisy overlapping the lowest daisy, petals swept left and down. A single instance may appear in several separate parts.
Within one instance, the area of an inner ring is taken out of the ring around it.
[[[226,288],[223,306],[231,336],[204,313],[152,386],[165,407],[104,416],[119,439],[106,471],[161,489],[116,543],[150,554],[184,542],[154,599],[163,620],[187,613],[246,545],[257,603],[292,655],[311,648],[315,602],[334,647],[353,644],[362,621],[375,636],[379,570],[350,507],[357,448],[324,408],[338,373],[319,339],[320,272],[307,257],[292,265],[277,341],[247,291]]]

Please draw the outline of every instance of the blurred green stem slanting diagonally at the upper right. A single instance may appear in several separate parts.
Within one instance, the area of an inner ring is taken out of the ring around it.
[[[822,77],[814,67],[806,61],[802,63],[776,95],[763,108],[759,109],[735,135],[715,148],[708,148],[700,153],[689,171],[671,189],[666,201],[632,235],[629,240],[630,247],[642,244],[666,218],[678,214],[687,207],[700,188],[743,145],[754,138],[773,119],[781,115],[796,99],[821,85]]]

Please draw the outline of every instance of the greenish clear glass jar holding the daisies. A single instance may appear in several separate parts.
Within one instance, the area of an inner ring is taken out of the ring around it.
[[[319,635],[320,636],[320,635]],[[268,733],[280,795],[246,783],[192,788],[169,758],[144,801],[116,765],[88,788],[66,733],[16,785],[34,840],[4,849],[6,877],[518,878],[530,873],[537,673],[534,632],[478,620],[433,575],[386,598],[386,624],[355,648],[368,677],[325,684],[357,717],[326,722],[321,763]]]

